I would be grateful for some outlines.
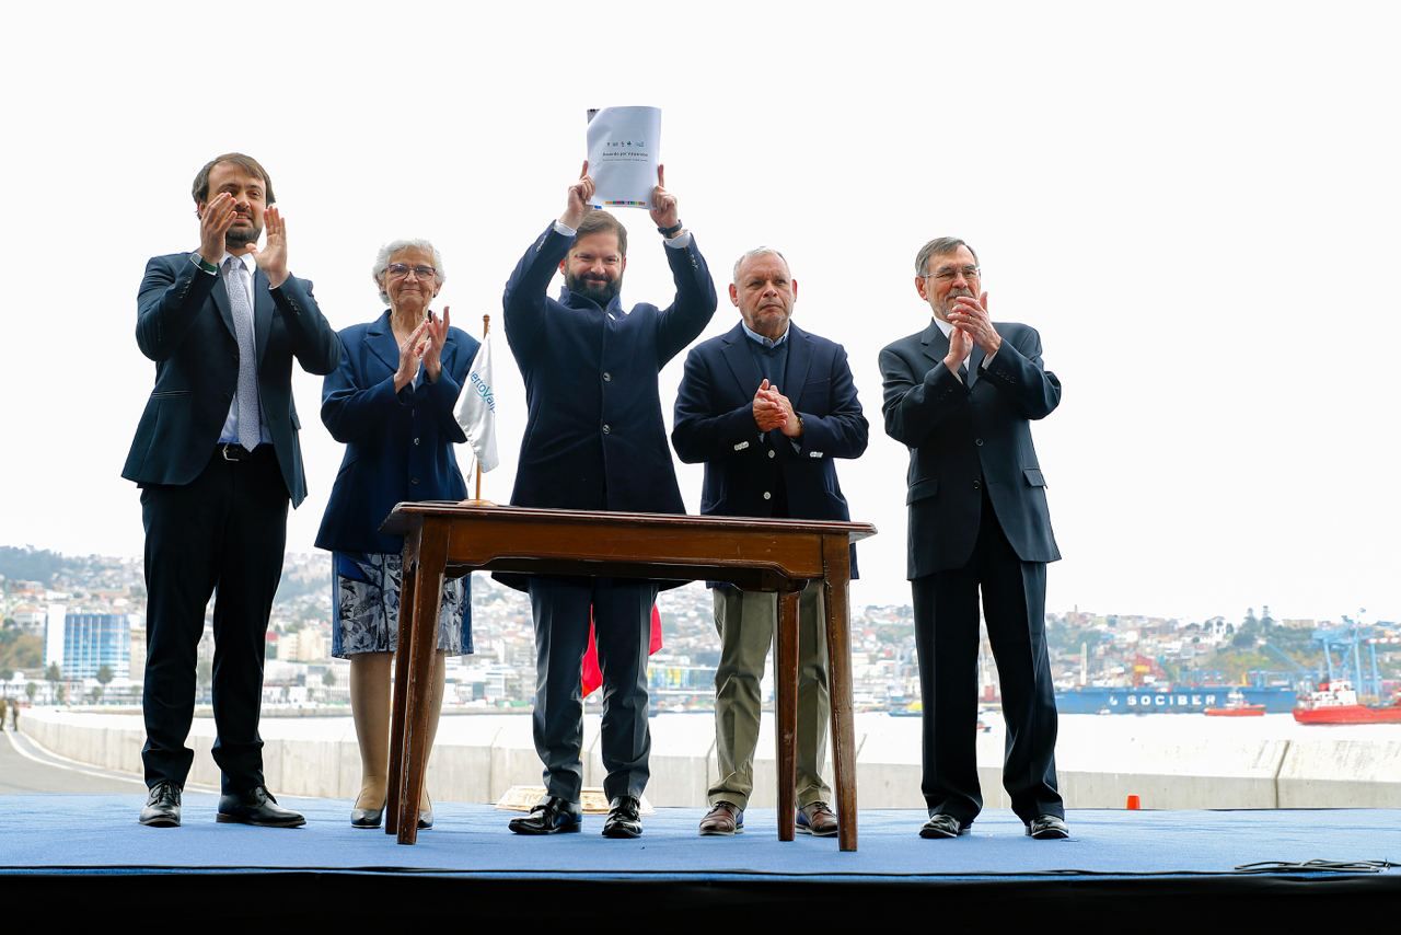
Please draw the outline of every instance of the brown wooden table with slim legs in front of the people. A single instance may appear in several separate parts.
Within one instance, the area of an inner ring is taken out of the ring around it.
[[[403,535],[399,659],[394,676],[389,799],[384,830],[417,840],[419,795],[432,712],[426,699],[437,649],[443,579],[471,571],[717,580],[778,592],[779,840],[792,841],[797,761],[797,606],[822,580],[832,702],[838,845],[856,849],[856,751],[852,737],[848,545],[869,523],[761,520],[665,513],[588,513],[467,503],[399,503],[384,533]]]

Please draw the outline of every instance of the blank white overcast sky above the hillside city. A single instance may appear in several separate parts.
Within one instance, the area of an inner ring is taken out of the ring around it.
[[[663,108],[681,216],[723,292],[783,250],[796,320],[846,345],[871,421],[839,463],[857,603],[904,603],[906,456],[881,346],[927,322],[913,254],[955,234],[996,320],[1035,325],[1065,385],[1035,426],[1063,562],[1048,607],[1401,618],[1397,22],[1334,3],[175,3],[7,8],[0,36],[0,544],[137,555],[120,479],[153,364],[150,255],[192,248],[216,153],[270,171],[294,273],[342,328],[373,318],[378,245],[444,254],[441,301],[499,318],[556,217],[584,109]],[[665,301],[642,212],[625,301]],[[722,297],[708,336],[729,329]],[[497,335],[500,470],[524,422]],[[670,402],[678,357],[661,374]],[[310,551],[340,447],[298,373]],[[699,468],[678,465],[699,505]]]

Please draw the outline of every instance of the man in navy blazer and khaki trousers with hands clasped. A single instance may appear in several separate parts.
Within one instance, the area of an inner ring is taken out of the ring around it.
[[[705,463],[700,512],[706,516],[850,519],[835,458],[856,458],[866,450],[866,416],[846,352],[790,322],[796,300],[797,280],[783,254],[751,250],[736,261],[730,285],[740,324],[686,355],[671,443],[682,461]],[[730,835],[743,830],[754,791],[759,681],[778,600],[713,587],[720,770],[700,834]],[[799,600],[799,653],[797,830],[827,837],[836,834],[836,816],[821,775],[831,719],[821,583],[810,585]]]

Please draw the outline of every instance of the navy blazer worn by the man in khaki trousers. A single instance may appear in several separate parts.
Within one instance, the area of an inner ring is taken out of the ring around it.
[[[839,343],[789,324],[787,373],[780,390],[803,416],[797,450],[773,429],[759,437],[754,393],[761,377],[752,339],[741,325],[696,345],[677,391],[671,443],[686,464],[705,461],[700,512],[708,516],[773,516],[765,498],[782,472],[789,517],[849,520],[834,458],[866,450],[867,423]],[[856,576],[855,551],[852,578]]]

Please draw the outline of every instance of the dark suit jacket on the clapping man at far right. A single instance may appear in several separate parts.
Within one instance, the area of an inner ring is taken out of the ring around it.
[[[1031,421],[1061,402],[1061,381],[1041,366],[1034,328],[996,322],[1002,348],[986,370],[976,345],[964,385],[943,364],[948,339],[930,320],[880,352],[885,433],[909,446],[911,579],[962,568],[972,555],[982,485],[1024,562],[1061,558]]]

